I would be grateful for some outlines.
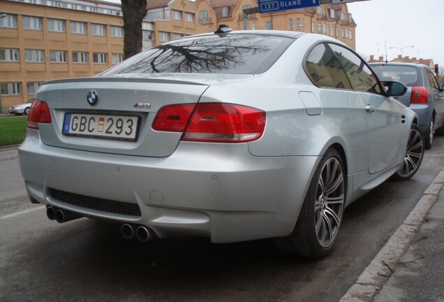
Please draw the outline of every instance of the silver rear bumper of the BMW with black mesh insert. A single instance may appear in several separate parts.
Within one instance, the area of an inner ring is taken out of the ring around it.
[[[40,203],[216,243],[288,235],[318,160],[253,157],[247,144],[216,143],[180,143],[170,157],[103,154],[44,145],[34,130],[19,158]],[[109,210],[114,204],[136,211]]]

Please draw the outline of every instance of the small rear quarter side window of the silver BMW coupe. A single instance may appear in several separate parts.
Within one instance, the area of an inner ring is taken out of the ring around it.
[[[351,89],[341,64],[325,44],[317,45],[311,50],[306,59],[306,71],[316,86]]]

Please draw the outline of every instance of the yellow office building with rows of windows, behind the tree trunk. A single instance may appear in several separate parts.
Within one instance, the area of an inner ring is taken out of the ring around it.
[[[188,0],[170,1],[163,12],[162,20],[143,22],[144,49],[209,31],[197,24]],[[1,112],[26,103],[46,80],[96,75],[121,62],[123,24],[117,3],[0,0]]]

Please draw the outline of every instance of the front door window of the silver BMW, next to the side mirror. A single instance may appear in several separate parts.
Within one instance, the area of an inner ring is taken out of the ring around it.
[[[353,90],[373,93],[381,92],[376,75],[360,57],[357,57],[353,52],[339,45],[329,44],[329,46],[346,71]]]

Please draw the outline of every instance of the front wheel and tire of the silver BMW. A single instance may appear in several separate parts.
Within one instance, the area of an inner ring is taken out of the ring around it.
[[[412,124],[410,135],[408,136],[406,156],[399,170],[392,175],[394,180],[408,180],[420,168],[422,158],[424,157],[424,136],[420,127]]]

